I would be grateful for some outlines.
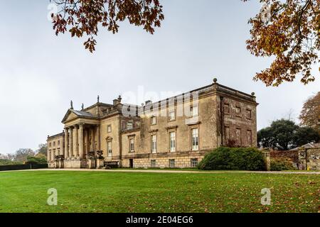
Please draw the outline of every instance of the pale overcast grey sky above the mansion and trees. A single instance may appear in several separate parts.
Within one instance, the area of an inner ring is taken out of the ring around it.
[[[60,121],[71,99],[80,109],[94,104],[98,94],[111,103],[139,86],[160,95],[217,77],[220,84],[256,93],[263,128],[290,112],[297,118],[303,101],[319,91],[319,79],[277,88],[252,81],[270,64],[245,48],[247,20],[260,9],[257,0],[162,0],[165,21],[154,35],[124,22],[116,35],[100,31],[94,54],[83,48],[84,40],[54,35],[49,0],[0,1],[0,153],[35,149],[47,135],[63,131]]]

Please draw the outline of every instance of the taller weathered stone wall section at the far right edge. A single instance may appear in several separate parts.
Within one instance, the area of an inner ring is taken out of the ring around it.
[[[320,148],[299,149],[299,170],[320,170]]]

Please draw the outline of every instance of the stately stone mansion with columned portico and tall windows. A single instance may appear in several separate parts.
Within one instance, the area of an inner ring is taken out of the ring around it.
[[[256,146],[255,94],[218,84],[140,106],[100,102],[70,109],[48,135],[52,168],[196,167],[221,145]]]

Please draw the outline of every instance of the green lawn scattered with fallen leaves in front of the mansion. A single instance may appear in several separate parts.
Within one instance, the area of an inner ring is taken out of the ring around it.
[[[47,191],[58,190],[58,206]],[[271,206],[260,204],[271,189]],[[0,172],[0,212],[318,212],[319,175]]]

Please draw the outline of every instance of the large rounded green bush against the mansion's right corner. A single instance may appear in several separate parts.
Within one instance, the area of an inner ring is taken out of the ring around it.
[[[198,164],[200,170],[265,170],[265,158],[256,148],[220,147]]]

